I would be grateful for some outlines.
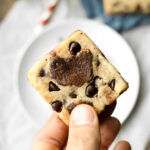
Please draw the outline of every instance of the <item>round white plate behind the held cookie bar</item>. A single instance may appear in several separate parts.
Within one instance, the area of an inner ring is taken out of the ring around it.
[[[19,100],[36,125],[42,126],[52,111],[29,83],[27,72],[41,56],[55,48],[60,40],[78,29],[89,35],[129,82],[129,89],[117,100],[113,116],[123,123],[136,103],[140,84],[139,69],[135,56],[126,41],[106,25],[85,19],[67,20],[52,25],[37,39],[30,42],[30,46],[25,47],[21,52],[18,61],[16,86]]]

